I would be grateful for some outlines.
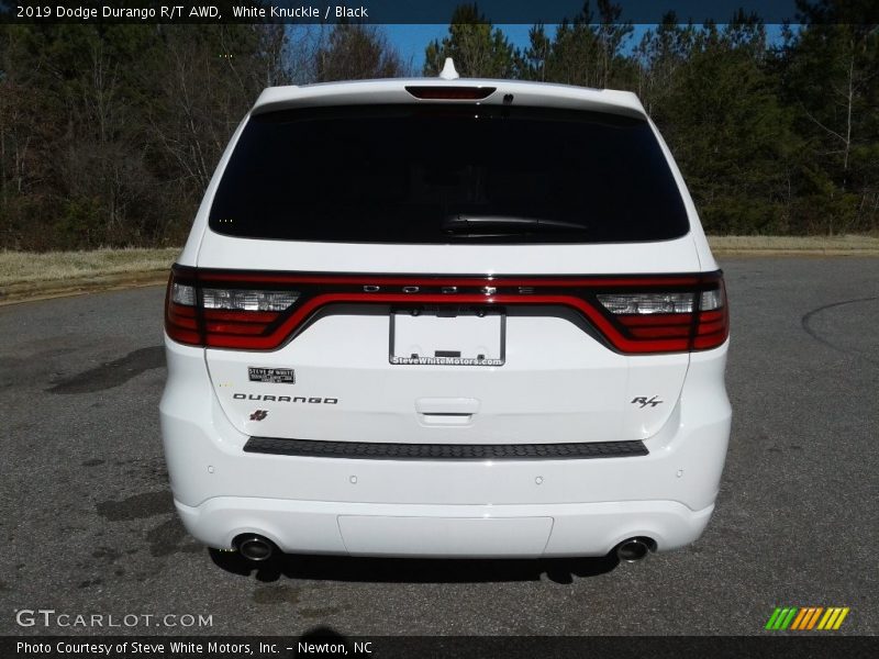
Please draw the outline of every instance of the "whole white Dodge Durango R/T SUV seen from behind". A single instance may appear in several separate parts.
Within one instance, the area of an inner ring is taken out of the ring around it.
[[[723,279],[628,92],[265,90],[165,327],[174,499],[211,547],[634,560],[714,507]]]

